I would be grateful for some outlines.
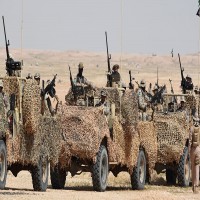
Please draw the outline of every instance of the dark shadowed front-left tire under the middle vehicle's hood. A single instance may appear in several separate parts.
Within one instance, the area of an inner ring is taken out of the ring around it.
[[[67,172],[60,167],[58,163],[55,167],[51,167],[51,185],[53,189],[63,189],[66,182]]]

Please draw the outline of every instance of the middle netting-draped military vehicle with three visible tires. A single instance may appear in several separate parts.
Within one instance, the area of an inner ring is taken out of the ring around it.
[[[132,90],[103,90],[111,108],[108,115],[102,107],[94,107],[101,89],[81,99],[85,106],[73,105],[69,91],[67,105],[60,106],[63,140],[59,162],[50,170],[53,188],[64,187],[67,172],[72,176],[91,172],[96,191],[106,190],[109,171],[115,176],[121,171],[130,173],[133,189],[143,189],[146,174],[151,175],[157,159],[153,122],[138,121],[137,98]]]

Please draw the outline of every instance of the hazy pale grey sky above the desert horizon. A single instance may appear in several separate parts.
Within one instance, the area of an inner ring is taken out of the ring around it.
[[[21,48],[23,13],[23,48],[61,51],[105,51],[107,30],[111,53],[194,53],[197,10],[198,0],[0,0],[10,48]]]

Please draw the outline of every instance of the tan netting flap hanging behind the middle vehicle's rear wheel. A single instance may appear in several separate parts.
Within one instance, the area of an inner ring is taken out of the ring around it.
[[[137,130],[140,137],[141,146],[145,149],[147,155],[147,164],[149,172],[155,167],[157,161],[157,135],[153,122],[139,122]]]

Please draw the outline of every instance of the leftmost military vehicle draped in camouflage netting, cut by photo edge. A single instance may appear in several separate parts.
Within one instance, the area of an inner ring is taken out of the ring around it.
[[[1,78],[9,108],[0,101],[0,188],[6,185],[7,170],[17,176],[21,170],[32,175],[33,188],[47,188],[49,162],[57,162],[60,134],[55,118],[41,115],[40,87],[34,80]]]

